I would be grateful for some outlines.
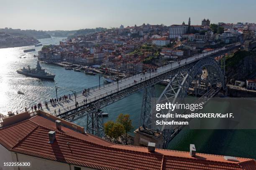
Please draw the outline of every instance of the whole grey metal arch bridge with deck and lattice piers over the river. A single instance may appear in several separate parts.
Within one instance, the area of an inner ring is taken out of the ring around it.
[[[165,98],[170,102],[177,102],[177,99],[182,99],[187,95],[187,90],[192,84],[192,81],[200,84],[200,76],[198,75],[202,74],[202,68],[206,68],[208,72],[207,82],[210,84],[210,87],[220,84],[224,88],[225,79],[223,75],[225,75],[225,69],[221,70],[220,62],[217,62],[214,57],[221,55],[225,57],[225,53],[238,49],[240,46],[240,43],[231,44],[212,51],[193,55],[178,62],[169,63],[168,65],[158,67],[154,72],[133,75],[107,85],[98,85],[90,88],[90,92],[87,95],[82,95],[82,91],[74,92],[72,99],[57,102],[56,105],[49,104],[49,107],[46,108],[44,106],[43,110],[69,121],[87,116],[87,132],[100,136],[103,125],[102,115],[99,114],[98,110],[144,89],[141,126],[151,129],[150,98],[154,97],[154,84],[172,77],[171,82],[166,86],[159,100]],[[219,90],[219,88],[215,89]],[[208,89],[207,84],[206,93],[213,95],[216,93],[216,90],[213,92],[212,89]],[[84,102],[84,100],[87,100],[87,102]],[[75,105],[76,102],[78,105]],[[164,132],[163,130],[163,133],[166,133],[164,135],[164,138],[166,138],[164,147],[166,147],[174,132],[170,130]]]

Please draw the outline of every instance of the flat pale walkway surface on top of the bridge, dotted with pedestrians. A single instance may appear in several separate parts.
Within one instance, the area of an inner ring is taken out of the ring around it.
[[[238,44],[236,44],[236,46],[238,46]],[[90,89],[90,93],[87,94],[87,95],[82,95],[82,92],[79,92],[77,94],[77,99],[76,100],[77,100],[79,106],[83,105],[83,101],[85,99],[87,99],[87,103],[93,102],[93,101],[98,100],[102,97],[105,97],[107,95],[115,93],[118,90],[123,90],[125,88],[128,88],[128,87],[131,87],[131,86],[135,85],[134,80],[136,80],[137,83],[140,83],[140,82],[146,81],[150,78],[157,77],[161,74],[169,72],[171,70],[175,70],[175,69],[181,67],[182,65],[189,64],[191,62],[195,62],[197,60],[200,60],[203,57],[214,55],[215,53],[218,53],[218,52],[221,52],[221,51],[224,52],[224,51],[228,50],[229,48],[231,50],[231,48],[233,48],[233,47],[228,47],[228,48],[222,47],[222,48],[215,49],[215,50],[212,50],[212,51],[209,51],[209,52],[197,54],[197,55],[194,55],[192,57],[188,57],[187,59],[180,60],[179,61],[180,64],[178,62],[172,62],[172,64],[168,64],[168,65],[165,65],[163,67],[158,67],[155,72],[147,72],[145,74],[133,75],[132,77],[127,77],[123,80],[119,80],[118,83],[114,82],[114,83],[110,83],[108,85],[104,85],[104,86],[101,86],[101,87],[96,87],[96,88]],[[51,105],[50,102],[48,101],[48,108],[46,108],[43,103],[42,103],[42,107],[43,107],[42,109],[44,111],[50,112],[51,114],[58,115],[60,113],[68,112],[69,110],[75,109],[75,98],[74,98],[74,95],[72,94],[72,97],[69,100],[66,100],[64,102],[57,102],[56,105]],[[60,112],[59,112],[59,109],[60,109]]]

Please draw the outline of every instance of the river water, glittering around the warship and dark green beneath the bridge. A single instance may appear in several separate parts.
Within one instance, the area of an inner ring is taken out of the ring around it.
[[[52,37],[39,40],[43,45],[59,44],[66,37]],[[42,47],[42,46],[41,46]],[[39,80],[17,74],[16,70],[30,65],[36,66],[36,57],[41,47],[26,46],[0,49],[0,112],[20,112],[24,107],[49,100],[55,97],[55,86],[58,86],[58,95],[72,93],[70,90],[82,90],[98,85],[98,76],[86,75],[82,72],[65,70],[56,65],[41,63],[47,72],[56,74],[55,80]],[[23,50],[36,48],[35,52],[24,53]],[[21,57],[21,58],[20,58]],[[26,57],[26,58],[24,58]],[[100,80],[103,83],[103,80]],[[19,95],[17,91],[25,94]],[[156,85],[156,97],[164,90],[164,86]],[[104,121],[115,120],[120,113],[129,114],[133,126],[138,127],[141,112],[143,91],[130,95],[104,108],[109,117]],[[85,119],[81,118],[74,123],[85,126]],[[182,130],[169,144],[172,150],[189,150],[189,144],[196,146],[197,152],[218,155],[229,155],[256,158],[256,130]]]

